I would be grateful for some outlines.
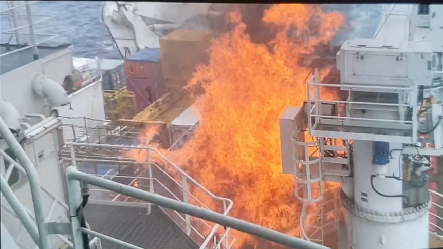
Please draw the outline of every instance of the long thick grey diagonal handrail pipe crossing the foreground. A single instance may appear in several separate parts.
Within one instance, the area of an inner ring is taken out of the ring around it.
[[[89,183],[94,186],[98,186],[104,189],[112,190],[116,193],[120,193],[125,196],[134,197],[146,202],[154,203],[162,207],[177,210],[178,212],[192,215],[204,220],[209,220],[214,223],[231,227],[238,231],[242,231],[248,234],[259,236],[261,238],[285,245],[291,248],[297,249],[329,249],[326,246],[319,245],[313,242],[309,242],[300,238],[292,237],[262,226],[252,224],[240,219],[236,219],[229,216],[224,216],[222,214],[196,207],[187,203],[172,200],[166,197],[159,196],[157,194],[152,194],[141,189],[123,185],[114,181],[106,180],[100,177],[91,176],[77,170],[75,166],[70,166],[67,168],[66,177],[69,180],[77,180],[84,183]],[[69,187],[69,186],[68,186]],[[76,197],[68,196],[69,201],[75,199]]]

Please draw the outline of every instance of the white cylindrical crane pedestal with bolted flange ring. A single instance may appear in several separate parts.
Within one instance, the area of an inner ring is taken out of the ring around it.
[[[354,141],[354,196],[342,193],[348,238],[346,247],[340,248],[428,247],[429,203],[403,208],[412,197],[403,196],[401,147],[390,143],[389,162],[378,165],[373,158],[374,142]]]

